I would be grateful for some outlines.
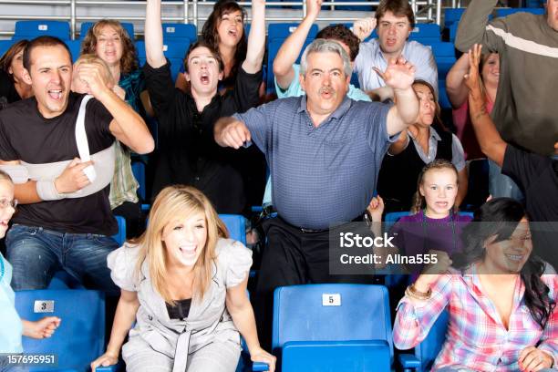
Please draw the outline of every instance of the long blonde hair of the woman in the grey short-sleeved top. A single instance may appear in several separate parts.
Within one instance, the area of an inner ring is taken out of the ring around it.
[[[215,260],[215,246],[219,238],[227,238],[229,233],[207,197],[190,186],[168,186],[160,191],[150,211],[150,223],[140,238],[132,241],[140,247],[136,273],[140,277],[141,265],[147,261],[150,279],[155,290],[171,305],[174,301],[166,285],[167,258],[162,233],[165,226],[177,218],[184,218],[202,212],[207,222],[207,240],[200,257],[194,263],[192,284],[193,298],[201,300],[212,280],[212,265]]]

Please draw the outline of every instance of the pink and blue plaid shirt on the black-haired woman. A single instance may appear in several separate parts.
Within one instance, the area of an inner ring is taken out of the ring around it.
[[[543,274],[542,282],[556,297],[558,275]],[[475,371],[517,371],[518,357],[528,346],[537,346],[558,361],[558,311],[554,310],[544,330],[532,318],[523,298],[525,285],[515,284],[508,329],[491,299],[483,294],[475,266],[464,274],[445,274],[431,286],[432,295],[420,305],[405,296],[399,302],[393,341],[399,349],[417,346],[448,307],[446,341],[432,370],[464,367]]]

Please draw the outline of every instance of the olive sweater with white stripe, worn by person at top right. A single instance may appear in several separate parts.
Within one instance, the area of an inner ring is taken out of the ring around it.
[[[460,20],[455,45],[474,43],[500,54],[498,95],[491,116],[501,137],[523,150],[552,155],[558,140],[558,31],[546,15],[488,15],[498,0],[473,0]]]

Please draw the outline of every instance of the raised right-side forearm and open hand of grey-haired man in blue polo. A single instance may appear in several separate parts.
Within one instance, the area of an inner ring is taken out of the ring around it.
[[[418,98],[413,90],[415,67],[399,57],[388,62],[386,71],[377,73],[394,91],[395,105],[387,112],[387,134],[393,136],[418,119]]]

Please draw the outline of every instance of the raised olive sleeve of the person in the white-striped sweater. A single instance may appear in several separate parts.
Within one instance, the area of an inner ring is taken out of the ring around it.
[[[505,18],[488,23],[488,17],[498,0],[472,0],[461,16],[460,26],[455,38],[455,47],[467,52],[473,44],[482,44],[491,52],[503,48],[503,38],[496,32],[505,31]],[[502,31],[498,31],[500,29]]]

